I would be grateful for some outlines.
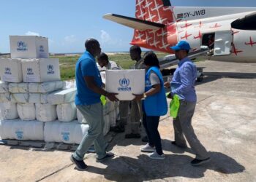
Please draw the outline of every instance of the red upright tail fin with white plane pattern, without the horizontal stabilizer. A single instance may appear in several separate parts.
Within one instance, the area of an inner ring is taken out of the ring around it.
[[[168,42],[176,44],[178,39],[173,7],[169,0],[136,0],[135,17],[151,23],[160,23],[165,27],[143,31],[135,28],[131,44],[151,50],[172,53],[169,47],[173,46],[173,44]]]

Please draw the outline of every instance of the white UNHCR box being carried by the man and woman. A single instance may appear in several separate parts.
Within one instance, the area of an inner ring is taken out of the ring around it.
[[[132,94],[143,94],[145,70],[106,70],[107,92],[118,93],[119,100],[132,100]]]

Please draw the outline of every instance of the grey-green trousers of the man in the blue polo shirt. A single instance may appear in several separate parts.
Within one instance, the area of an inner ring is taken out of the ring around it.
[[[89,151],[93,143],[97,158],[101,159],[105,157],[106,143],[103,136],[104,119],[102,103],[95,103],[89,106],[77,106],[77,108],[81,114],[83,114],[87,124],[89,124],[89,130],[87,134],[83,136],[73,157],[77,160],[83,160],[84,155]]]

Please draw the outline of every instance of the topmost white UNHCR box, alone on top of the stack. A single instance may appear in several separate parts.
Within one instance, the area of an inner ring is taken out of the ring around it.
[[[49,58],[48,38],[42,36],[10,36],[11,58]]]

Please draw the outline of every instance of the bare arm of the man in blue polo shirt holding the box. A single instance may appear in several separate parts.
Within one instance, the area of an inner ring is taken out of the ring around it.
[[[105,95],[111,101],[118,101],[118,99],[116,98],[116,93],[107,92],[101,87],[98,87],[97,84],[95,84],[94,76],[84,76],[83,79],[86,82],[87,87],[93,92],[99,95]]]

